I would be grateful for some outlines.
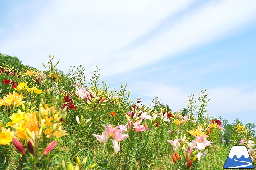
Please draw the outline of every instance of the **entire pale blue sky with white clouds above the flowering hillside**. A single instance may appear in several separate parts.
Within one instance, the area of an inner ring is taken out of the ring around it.
[[[89,77],[173,111],[206,88],[208,113],[256,123],[256,1],[0,1],[0,52]]]

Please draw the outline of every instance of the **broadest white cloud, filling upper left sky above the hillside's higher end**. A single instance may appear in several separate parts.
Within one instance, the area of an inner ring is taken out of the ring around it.
[[[118,60],[112,58],[114,53],[191,2],[193,0],[54,1],[43,7],[37,20],[26,21],[26,25],[14,21],[21,29],[20,34],[8,37],[5,44],[1,44],[1,50],[19,53],[24,58],[28,56],[27,51],[29,56],[41,59],[49,53],[55,54],[56,59],[61,59],[63,70],[81,62],[86,67],[100,65],[110,74],[106,65],[113,66],[112,63]],[[117,54],[120,58],[122,55]],[[32,65],[36,59],[31,57],[26,61]]]

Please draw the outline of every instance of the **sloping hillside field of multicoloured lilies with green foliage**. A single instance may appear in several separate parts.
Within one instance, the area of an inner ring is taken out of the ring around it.
[[[0,65],[0,169],[221,170],[233,145],[256,167],[255,125],[211,117],[206,89],[177,112],[157,96],[142,108],[97,67],[86,79],[82,65],[63,74],[58,63]]]

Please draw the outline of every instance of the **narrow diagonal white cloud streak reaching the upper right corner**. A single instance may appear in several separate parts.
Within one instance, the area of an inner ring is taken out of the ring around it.
[[[143,62],[154,62],[164,57],[173,57],[179,52],[204,45],[235,32],[235,28],[256,18],[256,1],[214,1],[184,13],[169,31],[144,42],[135,49],[123,53],[126,63],[139,67]],[[133,61],[136,61],[134,63]],[[119,61],[114,63],[123,72]]]

